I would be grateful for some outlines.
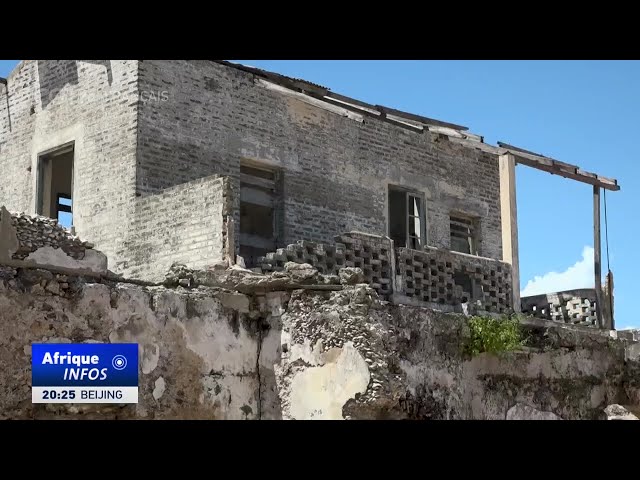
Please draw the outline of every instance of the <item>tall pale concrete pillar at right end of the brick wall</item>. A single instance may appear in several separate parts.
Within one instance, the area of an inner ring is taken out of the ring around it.
[[[518,257],[518,211],[516,205],[516,160],[500,155],[500,214],[502,261],[511,265],[513,309],[520,312],[520,262]]]

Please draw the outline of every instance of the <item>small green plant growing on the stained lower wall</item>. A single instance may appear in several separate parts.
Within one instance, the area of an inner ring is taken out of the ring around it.
[[[471,317],[469,329],[471,337],[465,345],[465,350],[471,356],[483,352],[509,352],[524,345],[517,318]]]

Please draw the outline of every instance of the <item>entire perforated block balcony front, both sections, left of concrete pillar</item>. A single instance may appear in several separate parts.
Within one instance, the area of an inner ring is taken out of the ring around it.
[[[511,266],[491,258],[427,247],[394,248],[377,235],[349,232],[335,244],[298,241],[259,259],[262,272],[286,262],[308,263],[323,274],[359,267],[378,295],[393,303],[451,312],[509,313],[513,310]]]

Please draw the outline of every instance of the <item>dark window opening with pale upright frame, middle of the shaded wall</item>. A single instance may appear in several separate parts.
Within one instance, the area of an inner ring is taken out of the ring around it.
[[[389,236],[397,247],[414,250],[424,248],[426,214],[421,194],[389,187]]]

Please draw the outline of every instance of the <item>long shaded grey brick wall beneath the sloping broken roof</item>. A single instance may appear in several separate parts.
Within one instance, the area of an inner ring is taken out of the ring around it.
[[[166,92],[141,106],[143,195],[211,174],[230,175],[237,188],[241,159],[281,167],[285,246],[386,233],[387,185],[403,185],[426,196],[430,245],[449,247],[449,211],[461,210],[482,219],[480,253],[501,258],[498,163],[488,154],[342,117],[213,62],[145,60],[139,78],[141,91]],[[237,199],[234,209],[237,220]]]

